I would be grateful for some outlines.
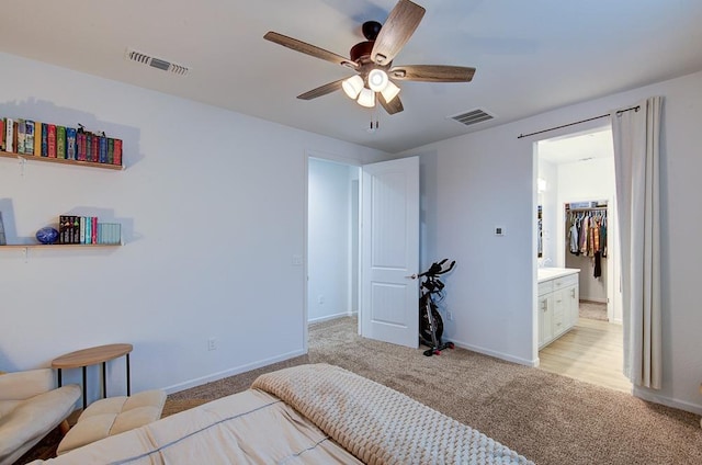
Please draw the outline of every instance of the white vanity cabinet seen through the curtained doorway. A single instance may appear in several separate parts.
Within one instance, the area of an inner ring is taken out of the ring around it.
[[[578,273],[539,281],[539,349],[565,334],[578,322]]]

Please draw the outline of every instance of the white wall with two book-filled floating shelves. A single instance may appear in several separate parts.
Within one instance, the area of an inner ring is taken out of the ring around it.
[[[122,223],[126,242],[26,261],[0,250],[0,368],[131,342],[133,390],[177,390],[306,351],[306,266],[293,258],[306,256],[307,152],[381,152],[11,55],[0,67],[0,115],[105,131],[127,166],[22,172],[0,159],[8,239],[75,213]],[[114,394],[122,363],[109,365]]]

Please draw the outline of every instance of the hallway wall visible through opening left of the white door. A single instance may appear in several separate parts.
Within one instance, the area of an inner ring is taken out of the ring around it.
[[[358,215],[359,168],[333,161],[309,159],[308,303],[309,321],[353,313],[353,229]],[[355,257],[358,261],[358,257]],[[356,270],[358,271],[358,270]],[[358,302],[358,300],[355,300]],[[356,309],[358,310],[358,309]]]

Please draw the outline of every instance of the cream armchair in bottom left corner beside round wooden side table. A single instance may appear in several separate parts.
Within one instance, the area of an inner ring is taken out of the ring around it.
[[[50,368],[0,375],[0,465],[32,449],[75,409],[80,387],[56,388]]]

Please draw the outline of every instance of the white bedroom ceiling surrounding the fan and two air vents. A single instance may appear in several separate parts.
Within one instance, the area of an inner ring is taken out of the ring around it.
[[[405,111],[373,114],[335,92],[296,95],[348,69],[264,41],[275,31],[349,56],[395,0],[4,1],[0,50],[397,152],[702,70],[700,0],[417,0],[396,65],[477,68],[471,83],[401,82]],[[184,65],[176,76],[125,50]],[[483,109],[466,127],[446,116]],[[136,110],[136,109],[135,109]]]

